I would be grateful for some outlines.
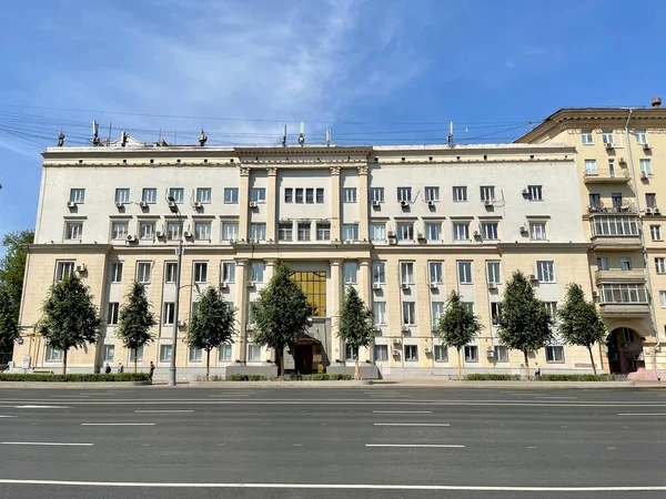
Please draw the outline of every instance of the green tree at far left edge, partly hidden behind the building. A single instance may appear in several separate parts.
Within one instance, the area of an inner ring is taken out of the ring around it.
[[[0,259],[0,352],[12,352],[19,337],[19,312],[23,293],[27,244],[34,242],[34,232],[11,232],[2,237],[4,257]]]

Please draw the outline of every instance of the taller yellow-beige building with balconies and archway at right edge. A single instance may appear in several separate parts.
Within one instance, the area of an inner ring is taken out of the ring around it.
[[[516,143],[576,150],[595,301],[610,335],[604,368],[666,367],[666,109],[562,109]],[[660,204],[664,202],[664,204]]]

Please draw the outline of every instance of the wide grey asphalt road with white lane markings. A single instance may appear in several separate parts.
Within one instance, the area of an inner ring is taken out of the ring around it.
[[[0,390],[12,498],[662,498],[666,390]]]

